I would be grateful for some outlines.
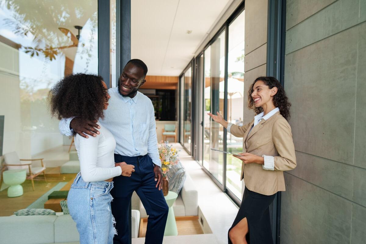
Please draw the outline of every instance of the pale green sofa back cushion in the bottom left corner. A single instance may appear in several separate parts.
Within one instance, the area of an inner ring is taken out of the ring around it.
[[[56,215],[0,217],[0,244],[54,243]]]

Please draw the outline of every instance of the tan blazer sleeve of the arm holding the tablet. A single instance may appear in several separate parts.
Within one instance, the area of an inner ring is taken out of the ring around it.
[[[295,146],[291,127],[284,118],[273,124],[272,139],[279,156],[274,157],[275,170],[286,171],[296,167]]]

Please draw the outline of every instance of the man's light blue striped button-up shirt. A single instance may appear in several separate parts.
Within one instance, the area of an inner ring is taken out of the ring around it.
[[[108,90],[108,109],[104,110],[104,120],[99,123],[112,132],[116,139],[115,153],[124,156],[148,154],[153,163],[161,166],[157,147],[154,106],[150,98],[139,91],[134,98],[122,97],[118,87]],[[62,119],[59,124],[61,134],[72,135],[70,122],[73,118]]]

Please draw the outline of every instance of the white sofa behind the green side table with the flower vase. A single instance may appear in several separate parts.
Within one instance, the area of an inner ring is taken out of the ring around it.
[[[173,204],[174,215],[176,217],[198,215],[198,191],[187,171],[186,176],[183,188]],[[145,207],[143,207],[141,200],[139,207],[141,218],[147,218],[146,210]]]

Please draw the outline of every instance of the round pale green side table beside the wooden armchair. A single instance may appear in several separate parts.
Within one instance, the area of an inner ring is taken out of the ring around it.
[[[8,197],[14,198],[23,195],[22,184],[27,177],[25,169],[10,169],[3,172],[4,183],[10,185],[8,188]]]

